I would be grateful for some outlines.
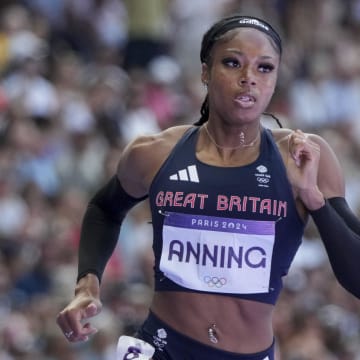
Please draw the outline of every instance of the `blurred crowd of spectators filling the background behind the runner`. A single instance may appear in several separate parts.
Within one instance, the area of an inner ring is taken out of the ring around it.
[[[55,322],[73,295],[87,201],[129,141],[198,119],[201,37],[232,12],[279,29],[269,111],[327,139],[360,215],[359,0],[1,0],[0,360],[114,359],[119,335],[144,319],[146,202],[126,218],[104,274],[100,331],[68,344]],[[360,301],[337,284],[311,221],[274,327],[277,360],[360,359]]]

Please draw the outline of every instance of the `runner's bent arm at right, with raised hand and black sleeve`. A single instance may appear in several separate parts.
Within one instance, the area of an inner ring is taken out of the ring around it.
[[[298,174],[302,181],[298,196],[318,228],[334,274],[360,298],[360,219],[345,199],[339,161],[324,139],[302,132],[291,134],[289,152],[289,169],[295,169],[293,176]]]

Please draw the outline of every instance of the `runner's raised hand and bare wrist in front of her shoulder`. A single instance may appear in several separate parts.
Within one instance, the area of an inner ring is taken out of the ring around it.
[[[320,146],[301,130],[296,130],[288,139],[288,178],[309,210],[324,205],[324,196],[318,187]]]

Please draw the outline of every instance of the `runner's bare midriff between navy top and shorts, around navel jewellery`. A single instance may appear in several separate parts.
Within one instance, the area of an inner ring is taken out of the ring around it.
[[[151,311],[183,335],[225,351],[251,354],[273,342],[274,306],[226,295],[157,292]],[[215,325],[217,343],[209,338]]]

